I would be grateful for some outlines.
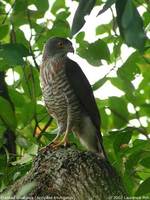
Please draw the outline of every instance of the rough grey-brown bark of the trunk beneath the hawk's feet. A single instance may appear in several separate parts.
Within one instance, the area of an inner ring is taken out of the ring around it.
[[[30,172],[12,187],[12,196],[28,183],[32,199],[108,200],[126,196],[120,177],[97,154],[74,147],[47,149],[36,156]]]

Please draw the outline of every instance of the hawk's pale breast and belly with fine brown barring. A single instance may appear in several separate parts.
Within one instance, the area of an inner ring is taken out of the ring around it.
[[[80,104],[72,90],[63,64],[57,70],[50,61],[41,71],[41,86],[47,110],[58,122],[70,131],[77,128],[80,121]]]

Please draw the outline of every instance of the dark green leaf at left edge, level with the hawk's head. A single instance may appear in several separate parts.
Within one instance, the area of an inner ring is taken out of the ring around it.
[[[24,64],[23,57],[27,57],[29,55],[30,53],[28,49],[22,44],[0,45],[0,62],[2,67],[0,70]]]

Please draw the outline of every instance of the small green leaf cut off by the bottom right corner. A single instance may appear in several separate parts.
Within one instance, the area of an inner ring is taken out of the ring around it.
[[[141,183],[141,185],[137,189],[135,195],[142,196],[142,195],[146,195],[146,194],[150,193],[149,186],[150,186],[150,178],[146,179],[145,181],[143,181]]]

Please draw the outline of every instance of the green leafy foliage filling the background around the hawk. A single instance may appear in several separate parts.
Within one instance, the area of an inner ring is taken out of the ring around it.
[[[120,97],[97,99],[104,146],[129,195],[150,197],[150,42],[147,39],[150,4],[147,0],[80,0],[71,25],[68,17],[72,13],[66,2],[0,1],[0,190],[23,176],[30,169],[38,147],[45,146],[55,136],[56,122],[41,103],[38,60],[45,41],[51,36],[62,36],[73,37],[78,44],[77,54],[91,65],[101,67],[102,60],[113,65],[92,86],[96,91],[109,81],[124,92]],[[95,30],[97,39],[91,43],[81,28],[86,23],[84,17],[95,7],[99,8],[100,23]],[[139,8],[143,8],[142,14]],[[102,14],[108,9],[112,19],[102,24]],[[51,19],[44,18],[46,12]],[[134,49],[122,62],[125,44]],[[118,67],[117,62],[122,64]],[[14,77],[12,84],[5,79],[8,71]],[[116,71],[116,75],[112,76],[111,71]],[[137,77],[141,81],[135,87]],[[15,155],[7,149],[9,130],[16,136]],[[80,148],[72,135],[70,140]]]

